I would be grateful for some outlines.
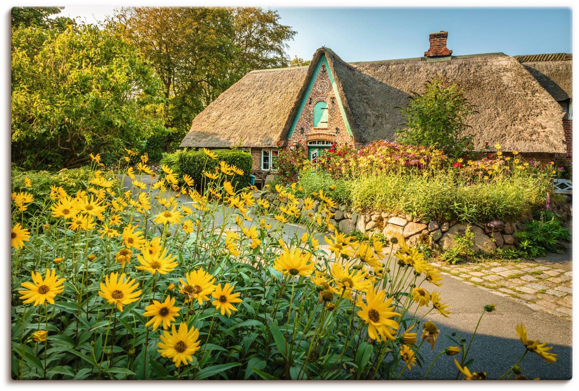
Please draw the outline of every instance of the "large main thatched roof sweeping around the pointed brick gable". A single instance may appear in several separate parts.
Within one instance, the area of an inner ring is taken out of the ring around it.
[[[478,113],[467,119],[475,148],[499,142],[504,150],[565,152],[561,106],[513,57],[503,53],[424,57],[348,64],[334,51],[316,51],[309,67],[248,73],[194,120],[181,146],[284,143],[307,83],[325,54],[354,141],[393,140],[404,126],[400,107],[435,75],[468,83]]]

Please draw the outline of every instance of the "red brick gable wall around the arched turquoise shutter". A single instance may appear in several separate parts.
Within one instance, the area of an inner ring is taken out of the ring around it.
[[[308,158],[308,141],[326,140],[338,145],[343,145],[344,143],[352,145],[354,143],[354,138],[348,134],[346,123],[342,113],[340,113],[338,97],[334,94],[325,64],[320,67],[320,72],[318,72],[316,81],[312,86],[312,91],[310,91],[306,99],[306,105],[299,116],[294,133],[291,137],[288,137],[288,147],[301,143],[306,150],[306,156],[304,157]],[[328,105],[327,128],[314,128],[314,105],[320,101],[324,101]]]

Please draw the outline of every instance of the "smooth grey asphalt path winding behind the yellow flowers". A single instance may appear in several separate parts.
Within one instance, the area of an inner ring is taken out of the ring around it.
[[[124,185],[130,188],[130,182],[129,178],[125,178]],[[144,180],[144,182],[147,183],[150,180]],[[169,191],[166,196],[171,194],[174,193]],[[186,204],[186,202],[190,202],[190,198],[183,195],[179,198],[179,202]],[[301,235],[303,231],[304,228],[301,226],[286,224],[284,239],[293,237],[295,233]],[[320,237],[323,237],[323,235],[320,235]],[[320,243],[323,244],[323,240],[320,240]],[[570,268],[570,252],[563,254],[560,259],[558,257],[548,257],[541,262],[565,264]],[[431,285],[431,287],[434,286]],[[475,359],[471,370],[486,371],[489,378],[499,378],[519,359],[524,351],[515,331],[516,324],[524,323],[527,327],[529,338],[541,341],[546,340],[549,345],[554,346],[552,352],[558,355],[558,360],[555,364],[547,364],[537,355],[529,353],[521,363],[521,367],[524,370],[523,374],[527,378],[571,378],[572,328],[570,321],[533,311],[524,304],[496,296],[493,293],[446,276],[443,279],[443,285],[436,290],[441,292],[442,300],[450,304],[449,309],[452,314],[450,318],[444,318],[438,313],[430,313],[426,316],[426,319],[436,323],[438,329],[441,330],[441,335],[434,351],[430,351],[427,344],[424,344],[420,349],[420,353],[428,365],[441,349],[450,345],[450,341],[444,337],[444,334],[456,331],[457,333],[462,333],[464,338],[470,341],[472,331],[477,325],[484,305],[495,304],[497,311],[485,314],[481,326],[479,326],[477,337],[475,337],[471,346],[468,356]],[[453,362],[455,357],[441,356],[430,371],[428,379],[455,379],[457,372]],[[411,371],[406,370],[404,378],[422,379],[426,370],[427,367],[415,367]]]

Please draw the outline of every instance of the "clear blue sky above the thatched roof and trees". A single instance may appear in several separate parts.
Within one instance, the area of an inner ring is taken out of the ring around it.
[[[502,51],[510,56],[571,53],[569,8],[283,8],[281,23],[298,34],[288,54],[309,59],[321,46],[345,61],[423,56],[428,34],[449,32],[453,54]],[[63,14],[87,23],[112,14],[112,7],[67,7]]]

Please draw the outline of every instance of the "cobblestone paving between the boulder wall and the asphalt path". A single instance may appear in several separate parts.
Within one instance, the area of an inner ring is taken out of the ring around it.
[[[570,267],[547,266],[532,261],[458,265],[437,261],[430,264],[441,270],[442,274],[468,285],[509,297],[534,311],[571,320],[573,272]]]

